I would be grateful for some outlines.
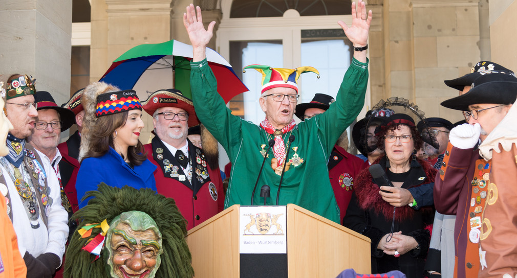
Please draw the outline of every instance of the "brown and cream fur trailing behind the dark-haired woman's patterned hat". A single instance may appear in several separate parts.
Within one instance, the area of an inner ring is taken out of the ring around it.
[[[88,153],[91,138],[90,129],[92,129],[97,122],[97,96],[103,93],[117,91],[120,91],[120,89],[102,81],[93,82],[84,88],[83,95],[81,96],[81,103],[85,113],[83,119],[83,130],[81,132],[81,146],[79,148],[78,160],[80,162],[84,155]]]

